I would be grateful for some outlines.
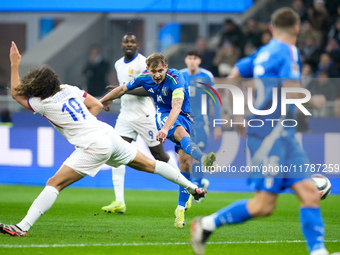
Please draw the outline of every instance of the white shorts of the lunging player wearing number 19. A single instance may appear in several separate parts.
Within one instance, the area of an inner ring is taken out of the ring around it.
[[[134,160],[137,149],[124,141],[111,128],[108,133],[97,137],[88,148],[77,147],[65,160],[64,165],[81,175],[95,176],[103,164],[113,167],[126,165]]]

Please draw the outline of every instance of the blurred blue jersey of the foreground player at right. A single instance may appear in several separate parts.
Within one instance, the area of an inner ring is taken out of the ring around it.
[[[295,106],[289,105],[287,115],[281,116],[281,86],[287,80],[300,80],[300,53],[294,45],[272,39],[252,56],[243,58],[236,63],[241,76],[259,78],[255,80],[256,95],[253,101],[257,110],[267,110],[272,106],[273,88],[278,88],[278,104],[270,115],[253,115],[250,119],[263,120],[262,127],[249,127],[248,134],[257,137],[267,136],[275,126],[281,125],[283,119],[295,119]],[[268,120],[280,121],[268,121]],[[291,126],[294,123],[287,122]],[[254,124],[255,125],[255,124]],[[290,134],[295,128],[286,127]]]

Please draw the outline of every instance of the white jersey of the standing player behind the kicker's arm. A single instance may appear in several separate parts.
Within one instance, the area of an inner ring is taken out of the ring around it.
[[[125,62],[124,57],[117,60],[115,69],[119,85],[126,85],[136,76],[141,74],[146,69],[146,58],[137,53],[130,61]],[[118,118],[126,120],[134,120],[145,118],[147,115],[155,116],[155,106],[150,97],[124,95],[121,97],[121,108]]]

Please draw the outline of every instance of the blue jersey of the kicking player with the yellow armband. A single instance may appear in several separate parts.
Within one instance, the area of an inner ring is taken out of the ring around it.
[[[128,90],[143,87],[155,101],[157,112],[170,112],[172,109],[172,92],[175,89],[182,89],[184,92],[184,101],[181,114],[190,114],[188,84],[185,82],[183,75],[176,69],[168,69],[164,81],[160,84],[156,84],[152,80],[149,72],[145,70],[126,86]]]

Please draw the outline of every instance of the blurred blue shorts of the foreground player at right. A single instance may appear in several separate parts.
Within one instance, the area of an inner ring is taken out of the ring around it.
[[[266,139],[248,137],[252,164],[267,166],[267,169],[276,167],[277,171],[253,173],[252,178],[248,179],[250,186],[257,191],[280,193],[310,176],[303,169],[309,160],[293,136],[281,136],[273,141]]]

